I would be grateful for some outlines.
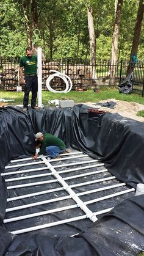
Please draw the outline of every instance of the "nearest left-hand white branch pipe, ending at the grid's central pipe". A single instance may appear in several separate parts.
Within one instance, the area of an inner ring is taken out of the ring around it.
[[[82,216],[78,216],[78,217],[74,217],[74,218],[70,218],[70,219],[63,219],[62,221],[51,222],[49,224],[38,225],[36,227],[29,227],[27,229],[16,230],[16,231],[12,231],[11,233],[13,235],[18,235],[18,234],[21,234],[21,233],[31,232],[31,231],[39,230],[39,229],[46,229],[47,227],[62,225],[62,224],[68,223],[68,222],[79,221],[81,219],[86,219],[86,218],[88,218],[87,214],[82,215]]]

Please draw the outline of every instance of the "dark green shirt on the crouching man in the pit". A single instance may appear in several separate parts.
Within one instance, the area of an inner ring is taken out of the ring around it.
[[[48,146],[57,146],[60,149],[65,148],[64,142],[61,139],[59,139],[59,137],[55,137],[49,133],[45,133],[41,149],[38,152],[38,155],[43,155],[46,152],[46,147]]]

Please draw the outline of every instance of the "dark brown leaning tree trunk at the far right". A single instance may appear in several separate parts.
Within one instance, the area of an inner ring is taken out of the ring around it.
[[[140,0],[139,8],[137,10],[137,20],[135,22],[134,37],[132,40],[132,48],[131,48],[131,55],[129,58],[129,67],[127,70],[127,76],[132,71],[134,71],[134,65],[132,64],[132,55],[134,53],[137,53],[137,49],[139,47],[139,39],[140,39],[140,32],[141,32],[141,28],[142,28],[143,13],[144,13],[144,2],[143,2],[143,0]]]

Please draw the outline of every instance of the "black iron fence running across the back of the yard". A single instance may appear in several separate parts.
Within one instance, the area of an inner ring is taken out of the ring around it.
[[[16,86],[22,86],[19,71],[20,59],[0,59],[0,89],[16,90]],[[113,65],[108,60],[98,60],[96,64],[84,60],[63,60],[46,62],[42,65],[42,89],[46,88],[46,79],[52,75],[51,70],[60,71],[71,78],[72,90],[88,89],[117,89],[118,85],[126,78],[129,72],[134,71],[133,91],[143,96],[144,91],[144,62],[137,64],[120,60]],[[60,78],[51,80],[50,86],[55,90],[63,90],[65,83]]]

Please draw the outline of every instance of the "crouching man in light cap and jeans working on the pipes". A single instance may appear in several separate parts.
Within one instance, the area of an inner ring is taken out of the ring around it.
[[[33,156],[33,159],[37,159],[38,156],[48,153],[51,158],[59,159],[60,153],[66,152],[64,142],[59,137],[53,136],[49,133],[37,133],[35,134],[35,141],[40,143],[36,148],[41,147],[40,151]]]

